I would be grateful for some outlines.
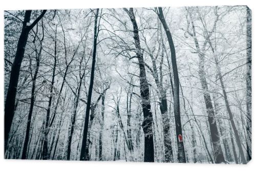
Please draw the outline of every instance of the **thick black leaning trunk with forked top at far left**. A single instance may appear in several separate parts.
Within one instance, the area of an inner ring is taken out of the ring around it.
[[[46,10],[44,10],[34,20],[34,22],[30,26],[28,26],[27,24],[30,22],[31,12],[32,12],[31,10],[27,10],[25,12],[22,33],[20,33],[20,36],[18,39],[17,50],[16,50],[14,61],[13,61],[13,65],[11,68],[9,87],[6,95],[6,101],[5,101],[5,152],[7,149],[8,138],[11,131],[11,125],[12,125],[12,120],[14,116],[15,99],[16,99],[16,93],[17,93],[20,66],[22,65],[22,60],[24,57],[24,52],[27,45],[29,32],[39,22],[39,20],[45,15]]]

